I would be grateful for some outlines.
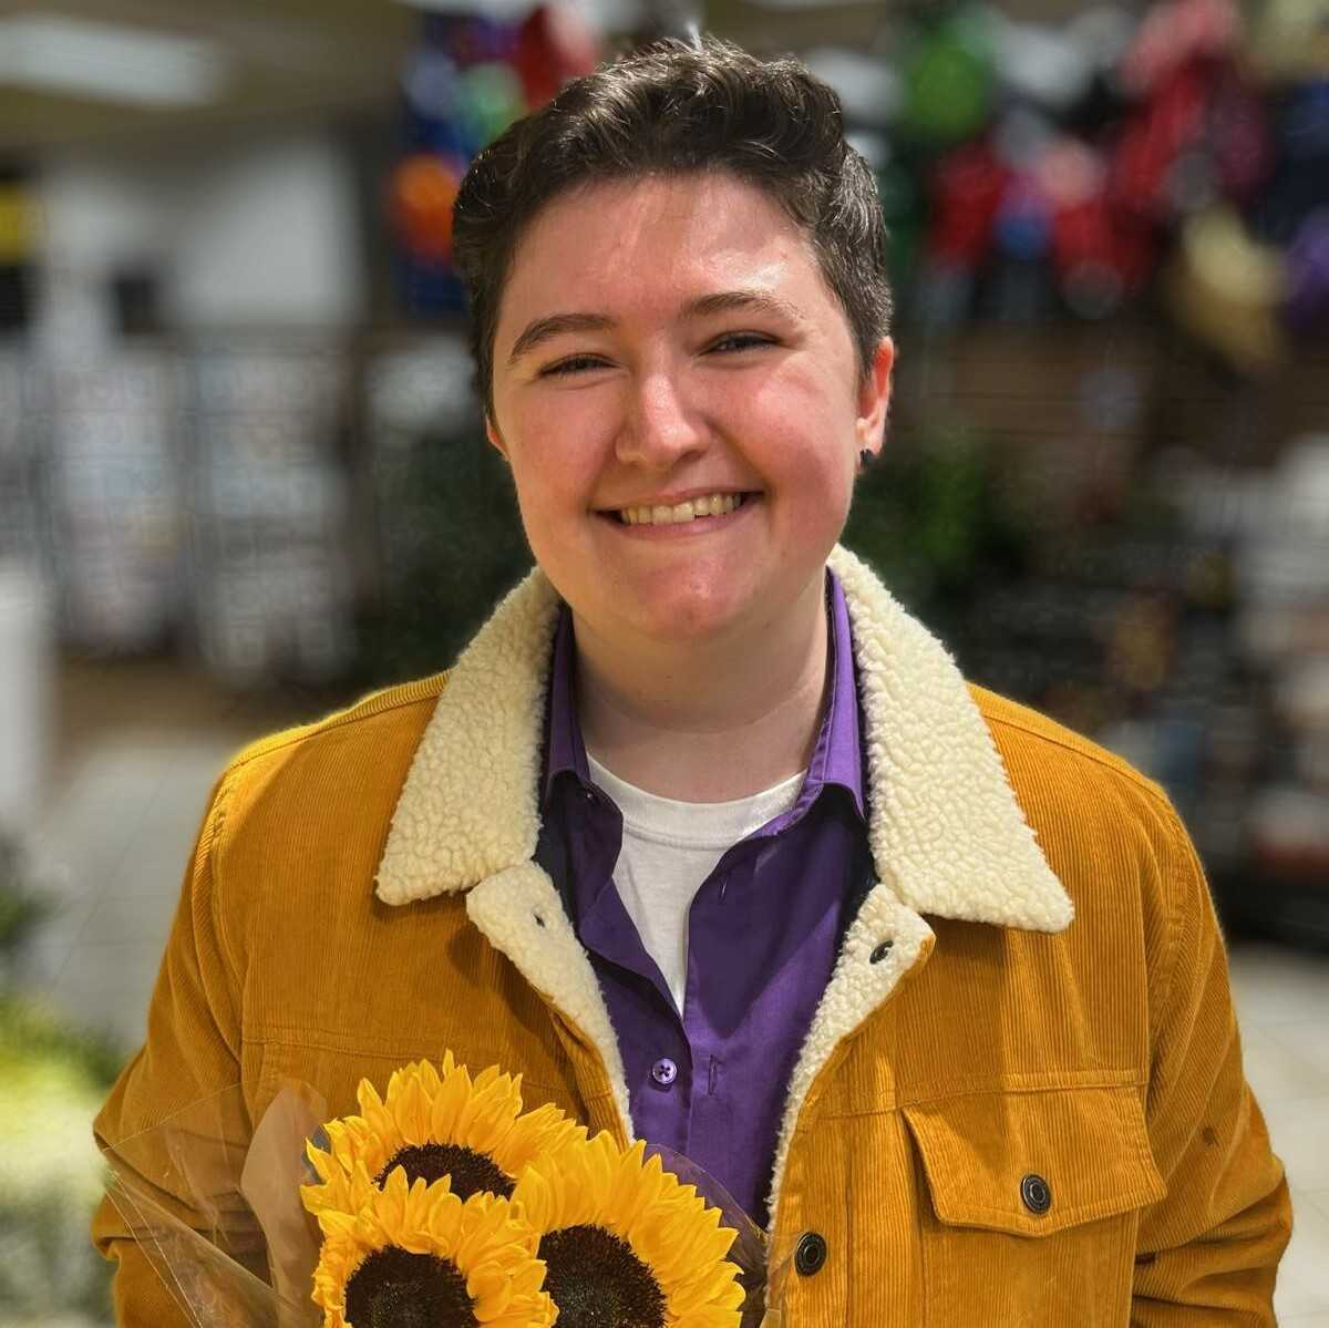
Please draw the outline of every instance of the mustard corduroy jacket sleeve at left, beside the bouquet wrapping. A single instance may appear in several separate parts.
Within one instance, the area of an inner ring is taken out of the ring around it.
[[[186,1107],[222,1094],[241,1079],[239,980],[218,909],[215,856],[226,779],[213,792],[171,924],[148,1010],[148,1038],[129,1062],[93,1123],[116,1168],[185,1223],[205,1223],[173,1183],[157,1127]],[[223,1094],[225,1097],[225,1094]],[[136,1244],[110,1194],[93,1219],[93,1242],[116,1262],[116,1323],[124,1328],[185,1328],[187,1317]]]

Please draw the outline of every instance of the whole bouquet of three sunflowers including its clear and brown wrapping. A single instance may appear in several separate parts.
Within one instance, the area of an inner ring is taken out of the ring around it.
[[[363,1079],[356,1095],[358,1114],[319,1125],[312,1090],[283,1090],[238,1171],[235,1099],[167,1123],[150,1155],[170,1174],[145,1176],[133,1149],[112,1150],[112,1196],[190,1323],[775,1321],[760,1232],[686,1158],[590,1137],[550,1105],[528,1111],[520,1075],[472,1075],[451,1053],[396,1070],[381,1097]]]

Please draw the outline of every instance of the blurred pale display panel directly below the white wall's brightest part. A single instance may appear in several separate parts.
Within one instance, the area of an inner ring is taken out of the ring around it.
[[[323,682],[352,655],[336,344],[247,336],[187,356],[189,602],[195,643],[231,686]]]

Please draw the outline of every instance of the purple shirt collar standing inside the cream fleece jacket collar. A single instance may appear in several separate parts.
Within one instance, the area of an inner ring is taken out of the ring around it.
[[[793,815],[811,806],[827,784],[839,784],[851,798],[859,815],[867,819],[864,807],[863,743],[859,719],[859,687],[853,662],[853,637],[849,630],[849,608],[844,588],[836,574],[827,568],[827,626],[829,650],[827,667],[831,673],[831,693],[821,727],[808,762],[808,776],[803,782]],[[573,615],[566,604],[560,606],[554,629],[553,658],[549,669],[549,723],[545,734],[546,759],[544,802],[548,804],[554,780],[561,774],[573,774],[590,783],[586,744],[577,718],[574,689],[577,642],[573,634]]]

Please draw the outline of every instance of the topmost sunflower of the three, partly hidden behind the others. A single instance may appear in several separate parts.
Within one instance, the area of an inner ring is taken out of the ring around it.
[[[356,1090],[359,1115],[330,1121],[327,1151],[310,1145],[318,1186],[302,1194],[311,1212],[355,1212],[363,1202],[358,1172],[383,1186],[395,1167],[407,1180],[451,1176],[452,1192],[509,1198],[518,1176],[538,1157],[583,1139],[582,1126],[556,1106],[521,1111],[521,1075],[490,1066],[470,1078],[447,1051],[441,1070],[419,1061],[395,1070],[387,1098],[368,1079]]]

